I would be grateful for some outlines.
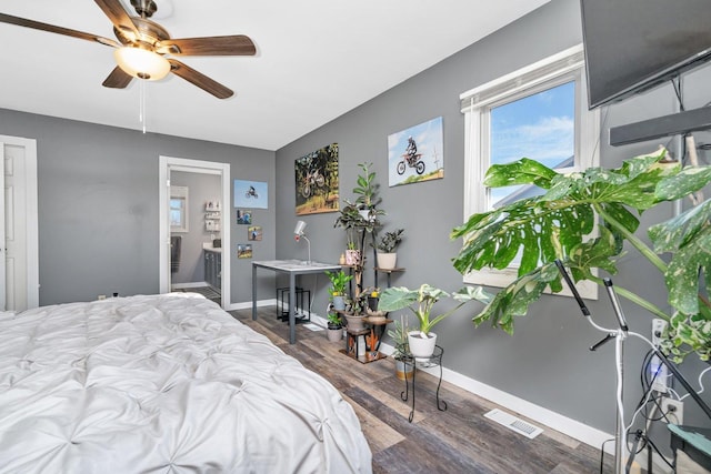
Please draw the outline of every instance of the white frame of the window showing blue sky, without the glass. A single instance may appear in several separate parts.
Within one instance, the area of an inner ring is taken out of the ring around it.
[[[575,164],[562,171],[581,171],[600,163],[600,111],[588,110],[582,44],[460,94],[465,127],[464,221],[471,214],[489,210],[489,193],[483,180],[489,169],[490,110],[571,79],[575,81]],[[512,264],[504,270],[482,269],[467,273],[463,281],[504,288],[515,280],[517,274],[518,265]],[[598,285],[592,282],[580,282],[578,290],[584,297],[598,297]],[[570,295],[570,292],[564,289],[562,294]]]

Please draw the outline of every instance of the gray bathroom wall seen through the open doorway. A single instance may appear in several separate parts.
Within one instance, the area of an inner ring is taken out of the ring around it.
[[[171,274],[171,284],[204,282],[204,256],[202,244],[212,243],[212,235],[220,238],[220,232],[206,230],[206,203],[221,200],[220,177],[216,174],[187,173],[173,171],[170,173],[170,184],[188,188],[188,232],[173,232],[171,235],[182,238],[180,265]],[[221,209],[226,208],[221,203]],[[228,219],[230,215],[227,216]],[[228,221],[229,222],[229,221]]]

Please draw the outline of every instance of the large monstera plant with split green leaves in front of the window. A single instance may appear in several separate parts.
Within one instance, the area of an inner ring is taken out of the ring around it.
[[[711,167],[682,168],[664,149],[617,169],[591,168],[571,174],[529,159],[491,167],[484,181],[488,186],[537,185],[544,193],[473,214],[452,231],[452,239],[463,238],[453,259],[461,273],[504,269],[520,258],[515,281],[499,291],[474,323],[490,321],[513,333],[515,317],[524,315],[547,288],[553,293],[562,290],[555,259],[563,261],[575,281],[603,284],[595,270],[615,274],[620,256],[631,246],[664,275],[671,314],[615,285],[618,294],[669,322],[662,350],[674,361],[693,352],[709,361],[711,201],[697,202],[649,228],[651,248],[635,231],[642,212],[685,196],[698,199],[710,181]],[[664,254],[669,263],[662,260]]]

